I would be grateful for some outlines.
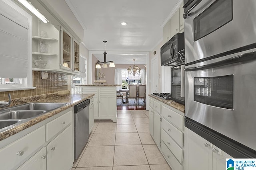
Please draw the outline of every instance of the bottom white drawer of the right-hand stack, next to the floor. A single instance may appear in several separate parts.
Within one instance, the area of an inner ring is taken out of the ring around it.
[[[168,147],[163,143],[162,144],[162,152],[167,162],[170,164],[173,170],[182,170],[183,166],[180,162],[175,158],[172,152],[168,149]]]

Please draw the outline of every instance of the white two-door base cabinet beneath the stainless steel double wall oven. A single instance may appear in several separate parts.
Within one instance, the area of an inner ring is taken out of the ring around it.
[[[190,129],[185,128],[185,170],[226,169],[226,158],[232,158],[232,156],[218,149],[216,146],[212,145],[212,143],[200,137]],[[198,164],[198,160],[200,160],[200,164]]]

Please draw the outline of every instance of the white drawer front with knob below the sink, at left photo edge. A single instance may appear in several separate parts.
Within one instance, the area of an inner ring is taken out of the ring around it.
[[[13,169],[45,143],[44,126],[32,131],[0,150],[2,170]],[[20,154],[18,154],[20,152]]]

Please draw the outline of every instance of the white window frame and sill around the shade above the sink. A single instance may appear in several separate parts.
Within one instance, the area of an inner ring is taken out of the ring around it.
[[[22,78],[21,84],[0,84],[0,92],[35,89],[35,87],[33,87],[32,75],[32,16],[11,0],[5,0],[5,2],[28,18],[28,76]]]

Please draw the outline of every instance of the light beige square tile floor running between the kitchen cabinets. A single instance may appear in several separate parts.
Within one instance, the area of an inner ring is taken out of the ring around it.
[[[150,136],[148,111],[120,110],[117,123],[95,120],[72,170],[171,170]]]

